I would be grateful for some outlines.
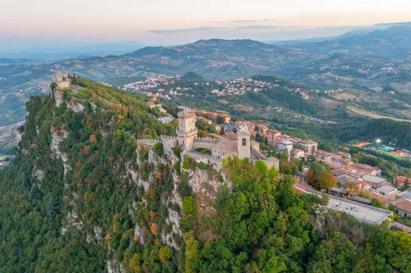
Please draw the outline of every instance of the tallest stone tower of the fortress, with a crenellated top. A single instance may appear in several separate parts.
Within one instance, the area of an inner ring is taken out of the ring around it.
[[[175,129],[175,132],[177,133],[178,144],[186,151],[191,151],[194,147],[194,139],[197,138],[195,114],[190,111],[182,111],[177,116],[178,127]]]

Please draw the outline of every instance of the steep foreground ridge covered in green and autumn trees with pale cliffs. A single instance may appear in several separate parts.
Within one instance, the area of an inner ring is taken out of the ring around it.
[[[84,90],[66,91],[60,107],[50,96],[27,103],[22,141],[0,171],[0,272],[106,272],[108,261],[132,273],[410,272],[410,235],[316,214],[325,199],[296,192],[292,177],[260,161],[227,159],[218,173],[181,149],[138,146],[173,125],[134,94],[75,84]],[[226,183],[208,210],[190,186],[200,171]]]

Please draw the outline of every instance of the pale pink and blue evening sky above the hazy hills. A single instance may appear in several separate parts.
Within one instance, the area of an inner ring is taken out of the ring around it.
[[[411,21],[410,0],[1,0],[0,47],[208,38],[291,40]],[[3,41],[3,42],[1,42]]]

